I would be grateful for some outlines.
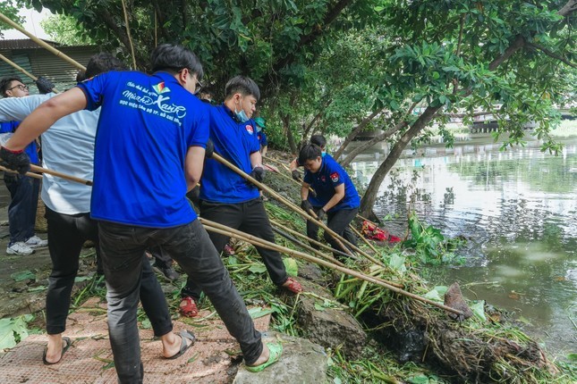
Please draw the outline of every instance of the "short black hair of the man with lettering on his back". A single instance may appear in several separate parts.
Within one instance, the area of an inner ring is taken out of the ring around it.
[[[202,64],[196,54],[190,49],[174,44],[161,44],[154,48],[150,54],[150,67],[153,72],[167,71],[173,74],[186,68],[191,74],[196,73],[199,80],[204,76]]]

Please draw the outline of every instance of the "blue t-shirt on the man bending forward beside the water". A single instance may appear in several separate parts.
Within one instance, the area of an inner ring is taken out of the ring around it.
[[[328,200],[335,195],[335,188],[343,183],[343,199],[328,212],[358,208],[361,205],[357,188],[354,188],[348,173],[344,171],[341,164],[335,162],[330,154],[325,154],[322,157],[320,169],[316,173],[305,170],[303,181],[310,184],[310,187],[317,192],[317,197],[309,194],[309,201],[312,206],[322,207],[326,205]]]

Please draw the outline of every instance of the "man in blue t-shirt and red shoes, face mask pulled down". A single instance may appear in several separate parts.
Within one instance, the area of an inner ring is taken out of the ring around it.
[[[259,101],[259,86],[250,78],[237,76],[225,86],[225,102],[210,108],[210,139],[215,153],[262,181],[260,144],[256,123],[250,119]],[[267,212],[259,198],[259,188],[225,165],[208,158],[200,179],[200,216],[258,238],[274,242],[275,235],[268,221]],[[217,252],[221,252],[229,237],[210,232]],[[293,293],[302,291],[301,284],[288,277],[281,255],[276,251],[257,246],[273,283]],[[180,311],[194,317],[198,312],[201,290],[189,276],[182,288]]]

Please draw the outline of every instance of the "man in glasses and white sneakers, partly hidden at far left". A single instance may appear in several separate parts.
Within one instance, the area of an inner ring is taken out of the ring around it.
[[[4,97],[29,96],[28,86],[24,85],[22,79],[18,76],[1,79],[0,93]],[[0,122],[0,133],[14,132],[18,128],[19,123],[19,121]],[[32,141],[29,146],[24,148],[24,153],[30,157],[30,163],[40,163],[38,146],[35,141]],[[47,240],[38,238],[34,233],[40,180],[18,173],[4,172],[4,183],[11,196],[11,202],[8,206],[10,242],[6,247],[6,254],[33,254],[34,248],[48,245]]]

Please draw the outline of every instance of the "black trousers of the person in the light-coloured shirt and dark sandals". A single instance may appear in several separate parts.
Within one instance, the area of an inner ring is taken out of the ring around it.
[[[47,333],[56,335],[66,330],[72,287],[84,242],[94,241],[97,259],[100,256],[98,223],[90,219],[89,213],[57,213],[48,207],[46,218],[48,250],[52,259],[52,272],[48,277],[47,291]],[[164,292],[149,263],[144,263],[142,271],[140,301],[155,336],[160,337],[173,330]]]

